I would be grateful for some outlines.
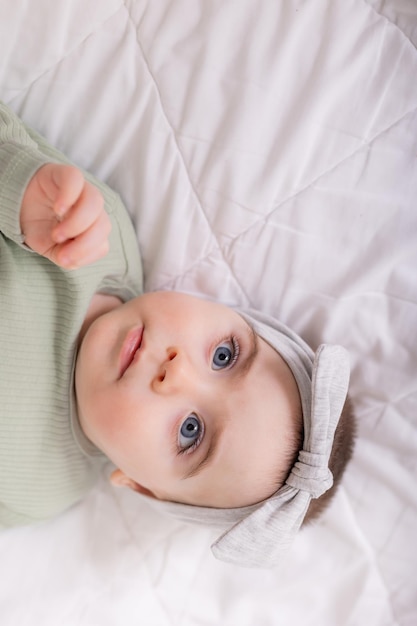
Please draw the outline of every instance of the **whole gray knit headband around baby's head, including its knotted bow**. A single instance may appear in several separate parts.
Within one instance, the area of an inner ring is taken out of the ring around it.
[[[223,561],[246,567],[272,567],[297,534],[312,498],[333,484],[329,458],[345,403],[349,360],[341,346],[311,348],[277,320],[253,310],[238,313],[286,361],[297,382],[304,421],[304,442],[285,484],[263,502],[234,509],[153,501],[185,522],[226,529],[212,545]]]

